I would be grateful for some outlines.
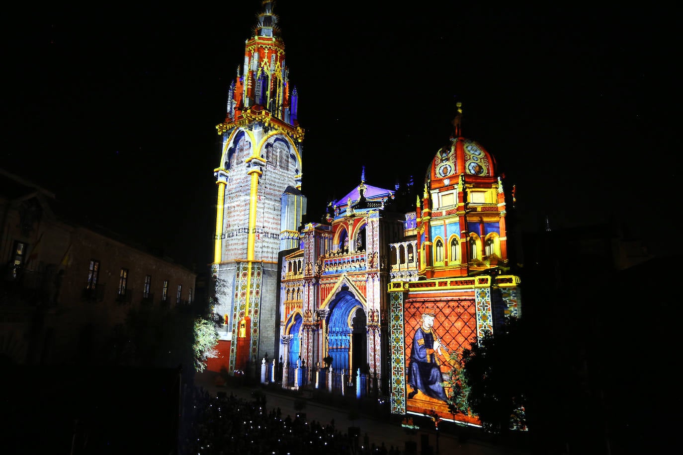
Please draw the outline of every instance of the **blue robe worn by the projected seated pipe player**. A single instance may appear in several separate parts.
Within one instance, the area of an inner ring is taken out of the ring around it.
[[[434,352],[434,334],[423,331],[419,327],[413,337],[413,349],[410,351],[410,365],[408,366],[408,385],[413,390],[420,390],[426,396],[446,401],[443,390],[441,368],[436,362]]]

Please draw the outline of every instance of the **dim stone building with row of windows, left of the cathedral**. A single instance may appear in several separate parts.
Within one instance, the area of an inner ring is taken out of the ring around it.
[[[16,364],[103,364],[131,308],[196,298],[194,271],[68,214],[54,194],[0,171],[0,355]],[[177,366],[177,365],[173,365]]]

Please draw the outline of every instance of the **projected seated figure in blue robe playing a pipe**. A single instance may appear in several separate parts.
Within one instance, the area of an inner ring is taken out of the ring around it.
[[[436,354],[447,351],[436,336],[434,327],[436,314],[430,309],[422,312],[422,325],[415,330],[413,336],[413,348],[410,350],[410,365],[408,366],[408,385],[413,387],[413,392],[408,394],[408,399],[415,397],[419,390],[426,396],[446,401],[446,392],[443,389],[443,376],[439,368]]]

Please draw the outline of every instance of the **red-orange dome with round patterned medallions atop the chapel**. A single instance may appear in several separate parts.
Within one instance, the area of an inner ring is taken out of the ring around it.
[[[425,181],[440,188],[458,183],[461,174],[466,181],[495,179],[495,160],[477,141],[457,137],[436,152]]]

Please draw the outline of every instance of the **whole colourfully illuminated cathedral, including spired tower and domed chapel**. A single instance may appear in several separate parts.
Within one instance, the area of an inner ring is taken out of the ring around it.
[[[359,185],[329,203],[325,220],[302,223],[303,130],[277,18],[263,4],[217,127],[214,276],[223,290],[216,310],[225,314],[228,371],[258,362],[264,381],[329,390],[331,371],[360,373],[391,397],[392,413],[477,423],[451,413],[462,392],[455,359],[520,315],[494,157],[462,136],[458,105],[454,134],[419,188],[410,186],[407,210],[398,187],[370,185],[363,169]],[[301,370],[307,377],[292,379]]]

